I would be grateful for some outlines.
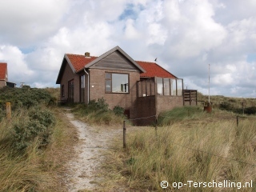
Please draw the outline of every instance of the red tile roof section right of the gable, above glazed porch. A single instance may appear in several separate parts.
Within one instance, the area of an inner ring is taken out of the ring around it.
[[[140,74],[142,78],[177,78],[167,70],[163,69],[162,66],[158,66],[155,62],[142,62],[136,61],[138,65],[142,66],[146,73]]]

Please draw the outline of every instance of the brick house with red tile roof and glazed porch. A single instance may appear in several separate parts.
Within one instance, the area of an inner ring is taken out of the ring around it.
[[[104,98],[110,108],[122,106],[137,124],[183,106],[183,80],[154,62],[134,61],[119,46],[99,57],[65,54],[56,81],[62,101]],[[135,121],[136,120],[136,121]]]

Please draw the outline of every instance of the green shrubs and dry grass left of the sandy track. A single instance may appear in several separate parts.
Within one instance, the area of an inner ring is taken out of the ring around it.
[[[60,175],[74,133],[59,118],[54,100],[48,90],[28,86],[0,90],[0,191],[65,189]],[[5,118],[6,102],[11,120]]]

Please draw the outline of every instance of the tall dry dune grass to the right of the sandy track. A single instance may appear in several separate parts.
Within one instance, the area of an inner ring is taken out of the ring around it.
[[[178,115],[178,111],[175,114]],[[206,118],[206,122],[201,123],[201,118],[208,114],[193,115],[195,119],[190,120],[194,123],[181,120],[170,126],[159,126],[157,133],[153,127],[130,133],[126,150],[119,148],[112,154],[116,174],[126,178],[122,183],[130,190],[142,191],[235,191],[239,187],[182,186],[178,189],[172,184],[252,181],[253,187],[239,191],[255,191],[256,118],[245,118],[237,126],[235,118],[214,120],[213,115],[210,121]],[[182,112],[178,117],[181,116]],[[182,126],[182,122],[186,126]],[[160,186],[162,181],[169,182],[167,189]]]

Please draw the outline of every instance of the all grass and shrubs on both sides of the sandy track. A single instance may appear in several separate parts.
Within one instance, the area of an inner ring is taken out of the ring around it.
[[[0,90],[0,191],[66,190],[63,162],[72,156],[70,146],[76,134],[60,116],[62,108],[54,106],[58,91],[29,86]],[[200,94],[199,99],[207,100]],[[127,125],[126,149],[118,140],[106,159],[109,181],[102,181],[106,189],[218,191],[222,189],[188,185],[178,189],[174,182],[227,180],[252,181],[253,187],[240,190],[255,191],[255,101],[247,99],[241,110],[242,98],[211,99],[211,114],[203,112],[200,105],[160,114],[157,131],[153,126],[130,131],[132,126]],[[5,118],[6,102],[11,102],[11,121]],[[126,119],[122,107],[110,110],[103,98],[72,108],[78,118],[91,124],[122,125]],[[236,115],[243,113],[250,115],[239,118],[237,126]],[[160,186],[162,181],[169,182],[166,189]],[[233,190],[239,189],[224,189]]]

